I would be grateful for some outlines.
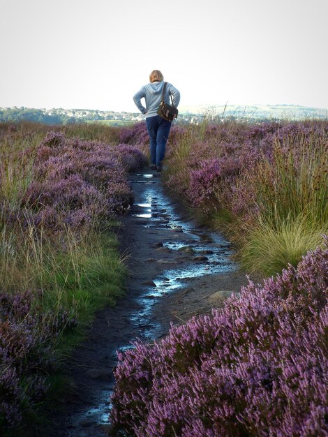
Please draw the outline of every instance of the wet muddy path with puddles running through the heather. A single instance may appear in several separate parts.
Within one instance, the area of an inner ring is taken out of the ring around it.
[[[116,351],[135,339],[160,338],[171,322],[211,311],[247,282],[230,260],[229,242],[181,214],[165,195],[160,174],[148,170],[130,180],[135,202],[120,232],[128,254],[126,295],[98,313],[87,341],[67,360],[73,384],[50,427],[36,429],[36,436],[106,436]]]

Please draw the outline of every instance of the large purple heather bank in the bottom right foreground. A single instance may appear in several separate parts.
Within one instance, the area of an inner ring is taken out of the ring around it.
[[[327,243],[211,316],[119,353],[112,434],[328,436]]]

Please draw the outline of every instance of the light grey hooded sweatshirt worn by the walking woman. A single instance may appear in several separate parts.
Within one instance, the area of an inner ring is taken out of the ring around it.
[[[142,87],[140,91],[137,91],[137,93],[133,96],[133,101],[135,102],[135,105],[137,105],[138,110],[140,110],[142,114],[146,114],[146,118],[154,117],[157,115],[157,110],[161,103],[163,87],[163,81],[149,83],[147,85],[144,85],[144,87]],[[170,95],[173,98],[173,106],[177,108],[177,105],[179,105],[180,101],[180,93],[177,88],[174,88],[172,84],[167,82],[164,96],[165,103],[171,104]],[[143,97],[146,101],[146,108],[144,108],[141,103],[141,99]]]

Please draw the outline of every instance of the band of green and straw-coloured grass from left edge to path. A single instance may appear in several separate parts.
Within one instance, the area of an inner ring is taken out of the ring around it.
[[[1,230],[1,291],[43,290],[45,309],[70,309],[90,318],[105,302],[114,303],[122,292],[124,260],[117,238],[109,232],[77,234],[66,228],[56,244],[32,225]],[[40,299],[40,295],[36,294]]]

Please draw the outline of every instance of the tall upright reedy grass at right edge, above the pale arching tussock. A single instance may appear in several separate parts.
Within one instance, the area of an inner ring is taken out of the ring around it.
[[[248,173],[263,221],[274,227],[286,219],[308,218],[320,225],[327,221],[327,143],[300,138],[297,149],[274,143],[273,157],[263,158]]]

